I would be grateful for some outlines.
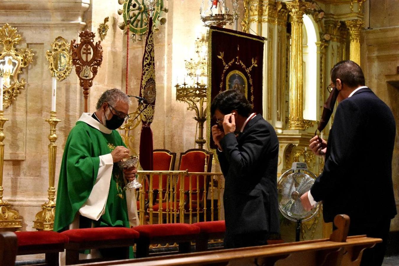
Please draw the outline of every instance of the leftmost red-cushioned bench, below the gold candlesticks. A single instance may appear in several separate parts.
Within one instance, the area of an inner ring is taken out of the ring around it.
[[[15,232],[17,255],[45,254],[47,265],[57,265],[59,252],[64,251],[69,238],[54,231]]]

